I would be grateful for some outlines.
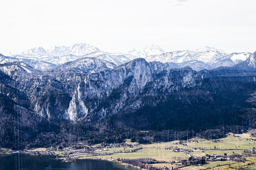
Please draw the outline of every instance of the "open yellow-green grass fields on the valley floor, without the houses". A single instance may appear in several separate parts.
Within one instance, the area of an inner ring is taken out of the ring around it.
[[[136,152],[129,152],[124,153],[126,150],[130,150],[132,148],[104,148],[104,151],[97,151],[97,153],[113,153],[112,155],[100,155],[100,156],[88,156],[88,155],[78,155],[76,157],[80,159],[84,158],[93,158],[93,159],[107,159],[107,160],[117,160],[117,158],[126,158],[126,159],[136,159],[136,158],[154,158],[159,161],[176,161],[178,162],[180,159],[186,159],[190,157],[191,155],[194,156],[204,156],[205,154],[222,154],[227,153],[228,155],[231,155],[233,153],[242,154],[243,149],[245,148],[253,148],[256,147],[256,143],[254,141],[248,141],[247,138],[250,138],[248,133],[243,134],[235,134],[237,136],[240,136],[241,138],[235,138],[233,137],[233,134],[226,135],[224,138],[221,138],[221,142],[212,142],[209,140],[201,139],[201,138],[192,138],[192,140],[199,140],[202,142],[187,142],[183,141],[184,143],[187,143],[188,146],[183,145],[174,145],[173,143],[179,142],[179,141],[171,141],[171,142],[159,142],[159,143],[151,143],[147,145],[139,145],[138,147],[143,147],[140,150],[137,150]],[[129,144],[137,144],[137,143],[131,143],[130,140],[126,140]],[[96,145],[95,145],[96,146]],[[172,150],[164,150],[164,148],[169,147],[179,147],[179,148],[197,148],[197,150],[194,150],[190,153],[190,155],[187,155],[184,152],[173,152]],[[198,150],[198,148],[203,148],[203,150]],[[120,152],[122,153],[115,153]],[[202,152],[203,151],[203,152]],[[183,167],[180,168],[181,170],[199,170],[199,169],[214,169],[214,170],[224,170],[229,169],[229,163],[232,165],[232,167],[238,167],[243,165],[243,168],[246,168],[247,163],[255,162],[256,163],[256,157],[247,158],[247,161],[245,163],[237,163],[233,161],[216,161],[216,162],[209,162],[202,166],[189,166],[189,167]],[[221,166],[219,166],[221,165]],[[154,164],[153,167],[173,167],[175,168],[175,165],[171,165],[170,163],[158,163]],[[250,165],[248,168],[255,168],[255,165]]]

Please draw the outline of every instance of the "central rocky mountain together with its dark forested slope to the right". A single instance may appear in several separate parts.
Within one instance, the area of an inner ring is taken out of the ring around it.
[[[90,73],[74,92],[65,118],[110,121],[118,127],[163,129],[175,125],[186,129],[186,124],[196,129],[198,125],[221,125],[214,118],[218,115],[227,124],[236,124],[239,119],[231,116],[238,116],[239,107],[249,105],[246,100],[256,90],[254,72],[239,75],[232,70],[196,72],[170,67],[139,58],[112,70]]]

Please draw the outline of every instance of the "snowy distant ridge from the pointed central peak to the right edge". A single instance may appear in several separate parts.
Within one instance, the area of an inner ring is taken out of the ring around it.
[[[245,61],[251,53],[227,53],[224,50],[205,46],[194,50],[178,50],[165,52],[157,45],[143,48],[141,51],[132,49],[127,53],[113,53],[114,55],[125,55],[132,59],[145,58],[147,62],[158,61],[161,63],[175,63],[173,67],[192,67],[194,70],[213,69],[218,67],[232,67],[237,63]]]

